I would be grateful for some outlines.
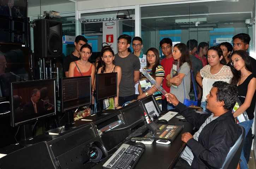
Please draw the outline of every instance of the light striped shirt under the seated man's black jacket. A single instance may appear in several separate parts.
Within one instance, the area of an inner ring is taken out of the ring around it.
[[[201,131],[203,130],[203,127],[206,126],[207,124],[209,124],[211,121],[215,120],[215,119],[218,118],[218,117],[219,117],[219,116],[213,117],[213,113],[212,113],[212,115],[210,115],[210,116],[206,119],[206,121],[204,121],[204,123],[203,123],[202,126],[199,128],[199,130],[193,135],[193,138],[198,141],[199,134],[200,134]],[[193,161],[193,159],[194,159],[194,155],[193,155],[191,149],[190,149],[188,146],[185,147],[185,149],[183,150],[183,152],[182,152],[182,154],[181,154],[180,157],[183,158],[183,159],[185,159],[185,160],[189,163],[189,165],[192,164],[192,161]]]

